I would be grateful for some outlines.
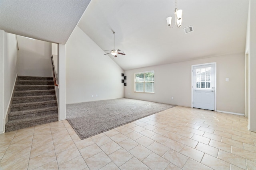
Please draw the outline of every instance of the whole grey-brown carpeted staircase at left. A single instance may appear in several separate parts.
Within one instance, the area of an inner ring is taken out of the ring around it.
[[[5,131],[58,121],[52,77],[18,76]]]

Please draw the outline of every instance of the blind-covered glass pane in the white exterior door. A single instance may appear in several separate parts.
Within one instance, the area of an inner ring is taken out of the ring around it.
[[[196,88],[211,88],[211,67],[196,68]]]

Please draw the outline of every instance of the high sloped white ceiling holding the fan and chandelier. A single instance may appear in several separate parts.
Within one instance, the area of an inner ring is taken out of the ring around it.
[[[244,53],[248,0],[177,0],[182,27],[170,29],[174,0],[92,0],[78,26],[124,70]],[[173,23],[174,24],[174,21]],[[194,32],[183,28],[193,25]],[[102,53],[102,55],[104,52]]]

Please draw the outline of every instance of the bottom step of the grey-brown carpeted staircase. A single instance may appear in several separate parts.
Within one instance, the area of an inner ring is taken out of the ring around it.
[[[24,119],[8,121],[5,125],[5,131],[15,131],[18,129],[41,125],[44,123],[50,123],[58,121],[58,113],[52,113],[48,115],[41,115],[36,117],[28,117]]]

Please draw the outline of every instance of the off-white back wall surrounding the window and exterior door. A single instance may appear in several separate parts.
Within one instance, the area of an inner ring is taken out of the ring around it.
[[[191,66],[217,63],[217,110],[244,114],[244,54],[126,70],[125,98],[191,107]],[[155,71],[155,93],[134,92],[134,73]],[[229,82],[225,81],[229,78]],[[129,95],[130,94],[130,95]],[[174,100],[171,100],[171,97]]]

